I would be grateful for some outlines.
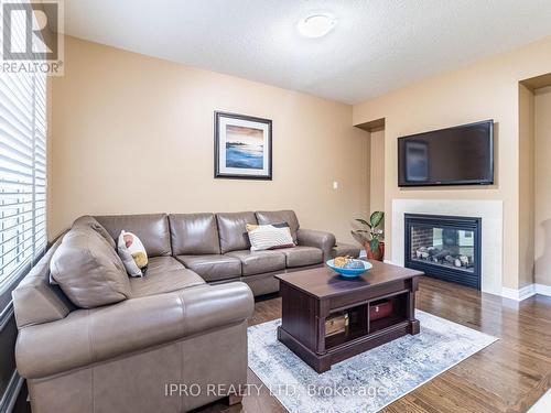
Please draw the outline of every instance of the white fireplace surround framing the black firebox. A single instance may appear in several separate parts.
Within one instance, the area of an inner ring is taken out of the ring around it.
[[[501,200],[393,199],[392,258],[404,262],[404,214],[451,215],[482,218],[482,291],[501,295],[504,205]]]

